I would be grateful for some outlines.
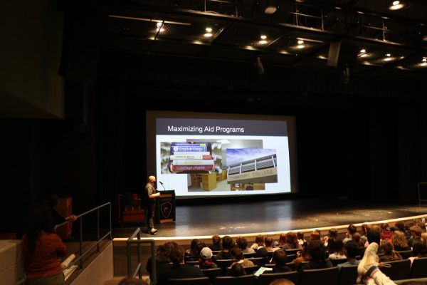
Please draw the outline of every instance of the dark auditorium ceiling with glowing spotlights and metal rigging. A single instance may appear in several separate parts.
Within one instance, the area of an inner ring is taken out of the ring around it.
[[[109,51],[426,78],[424,0],[103,1]],[[335,48],[330,48],[332,46]]]

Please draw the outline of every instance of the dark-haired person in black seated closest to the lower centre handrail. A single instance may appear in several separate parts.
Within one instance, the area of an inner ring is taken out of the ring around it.
[[[166,285],[169,278],[204,277],[199,267],[184,264],[184,250],[176,242],[167,242],[167,247],[173,264],[159,274],[157,285]]]

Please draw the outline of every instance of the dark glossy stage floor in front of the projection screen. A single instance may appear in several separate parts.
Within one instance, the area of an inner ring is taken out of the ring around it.
[[[226,199],[226,198],[225,198]],[[427,214],[427,205],[374,204],[347,199],[285,199],[276,201],[188,205],[176,207],[176,222],[159,224],[156,237],[251,234],[337,227]],[[115,228],[113,237],[129,237],[137,224]],[[145,226],[142,225],[143,229]],[[148,237],[148,234],[143,234]],[[152,236],[149,236],[152,237]]]

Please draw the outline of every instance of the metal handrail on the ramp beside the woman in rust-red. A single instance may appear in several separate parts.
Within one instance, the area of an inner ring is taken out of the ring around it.
[[[107,232],[107,234],[105,234],[103,237],[100,238],[100,209],[102,207],[106,207],[109,206],[109,219],[110,219],[110,231]],[[85,252],[83,252],[83,217],[86,216],[87,214],[90,214],[91,212],[97,212],[97,242],[96,244],[93,244],[91,247],[89,247],[89,249],[87,249]],[[100,206],[97,206],[93,209],[90,209],[87,212],[84,212],[82,214],[79,214],[77,216],[77,219],[80,219],[80,240],[79,240],[79,257],[74,259],[72,262],[70,262],[70,264],[68,264],[67,269],[69,269],[71,266],[73,266],[74,264],[76,264],[77,262],[80,261],[79,263],[79,267],[80,269],[83,269],[83,257],[85,257],[86,254],[88,254],[88,252],[90,252],[94,247],[97,247],[96,251],[100,252],[100,242],[102,240],[104,240],[106,237],[110,236],[110,240],[112,240],[112,223],[111,223],[111,202],[107,202],[105,204],[102,204]],[[68,222],[63,222],[62,224],[58,224],[56,228],[62,226],[63,224],[68,224]]]

